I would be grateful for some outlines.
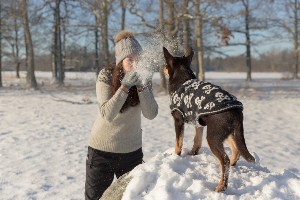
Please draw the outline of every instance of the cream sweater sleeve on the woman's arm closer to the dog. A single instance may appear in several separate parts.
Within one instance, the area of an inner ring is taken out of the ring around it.
[[[149,88],[138,92],[140,98],[141,109],[144,117],[147,119],[154,119],[158,114],[158,105],[154,99],[153,92]]]

